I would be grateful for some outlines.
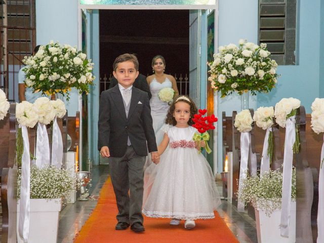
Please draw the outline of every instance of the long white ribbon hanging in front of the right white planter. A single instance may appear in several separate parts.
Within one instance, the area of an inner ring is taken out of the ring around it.
[[[289,117],[286,123],[284,169],[282,172],[282,197],[280,234],[289,237],[290,207],[292,197],[293,146],[296,141],[295,116]]]

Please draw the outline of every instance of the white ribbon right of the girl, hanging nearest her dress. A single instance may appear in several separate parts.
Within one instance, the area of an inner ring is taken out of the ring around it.
[[[251,143],[251,133],[245,132],[240,135],[240,150],[241,150],[241,160],[239,165],[239,179],[238,179],[238,200],[237,200],[237,211],[244,212],[245,202],[240,199],[240,192],[242,190],[242,181],[247,177],[249,152]]]

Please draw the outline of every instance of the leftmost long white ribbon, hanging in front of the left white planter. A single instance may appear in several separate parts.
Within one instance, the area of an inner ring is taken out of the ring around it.
[[[30,154],[27,128],[21,127],[24,152],[21,159],[21,185],[19,204],[18,232],[24,242],[28,242],[29,236],[29,210],[30,210]]]

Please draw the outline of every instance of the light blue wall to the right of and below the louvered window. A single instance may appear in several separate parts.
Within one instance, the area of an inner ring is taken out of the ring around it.
[[[258,95],[258,106],[274,106],[282,98],[294,97],[301,100],[306,112],[316,97],[323,97],[324,81],[324,11],[323,1],[300,1],[299,23],[299,65],[278,66],[276,88],[269,94]],[[320,15],[321,12],[321,15]],[[319,81],[322,81],[321,83]]]

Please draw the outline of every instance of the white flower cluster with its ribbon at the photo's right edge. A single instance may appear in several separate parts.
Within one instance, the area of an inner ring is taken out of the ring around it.
[[[324,99],[316,98],[311,106],[311,128],[319,134],[324,132]],[[320,154],[320,167],[318,178],[318,191],[324,190],[324,143],[321,148]],[[324,228],[324,195],[318,194],[318,211],[317,211],[317,242],[324,242],[324,231],[320,230]]]

